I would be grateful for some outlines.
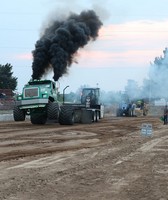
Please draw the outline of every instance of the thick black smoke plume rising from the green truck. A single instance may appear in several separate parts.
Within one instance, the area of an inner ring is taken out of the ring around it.
[[[78,49],[96,39],[101,26],[102,22],[93,10],[55,21],[36,42],[32,52],[32,78],[40,79],[52,69],[53,79],[57,81],[67,72]]]

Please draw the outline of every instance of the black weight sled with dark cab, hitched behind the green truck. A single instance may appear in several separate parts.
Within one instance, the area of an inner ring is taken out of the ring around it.
[[[80,103],[64,102],[60,108],[59,123],[90,124],[104,117],[104,105],[100,103],[100,88],[83,88]]]

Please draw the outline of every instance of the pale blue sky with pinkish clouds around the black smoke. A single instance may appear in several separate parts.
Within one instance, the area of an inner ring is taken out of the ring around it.
[[[40,31],[49,19],[93,9],[103,22],[96,41],[78,51],[78,64],[59,80],[69,85],[99,85],[104,91],[124,90],[128,79],[142,85],[150,62],[168,42],[167,0],[5,0],[0,6],[0,64],[10,63],[21,91],[32,75],[32,56]],[[52,79],[53,74],[48,77]]]

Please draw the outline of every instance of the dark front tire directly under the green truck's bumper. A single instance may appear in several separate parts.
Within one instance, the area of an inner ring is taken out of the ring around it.
[[[47,121],[47,115],[45,113],[32,113],[30,115],[30,121],[32,124],[45,124]]]

